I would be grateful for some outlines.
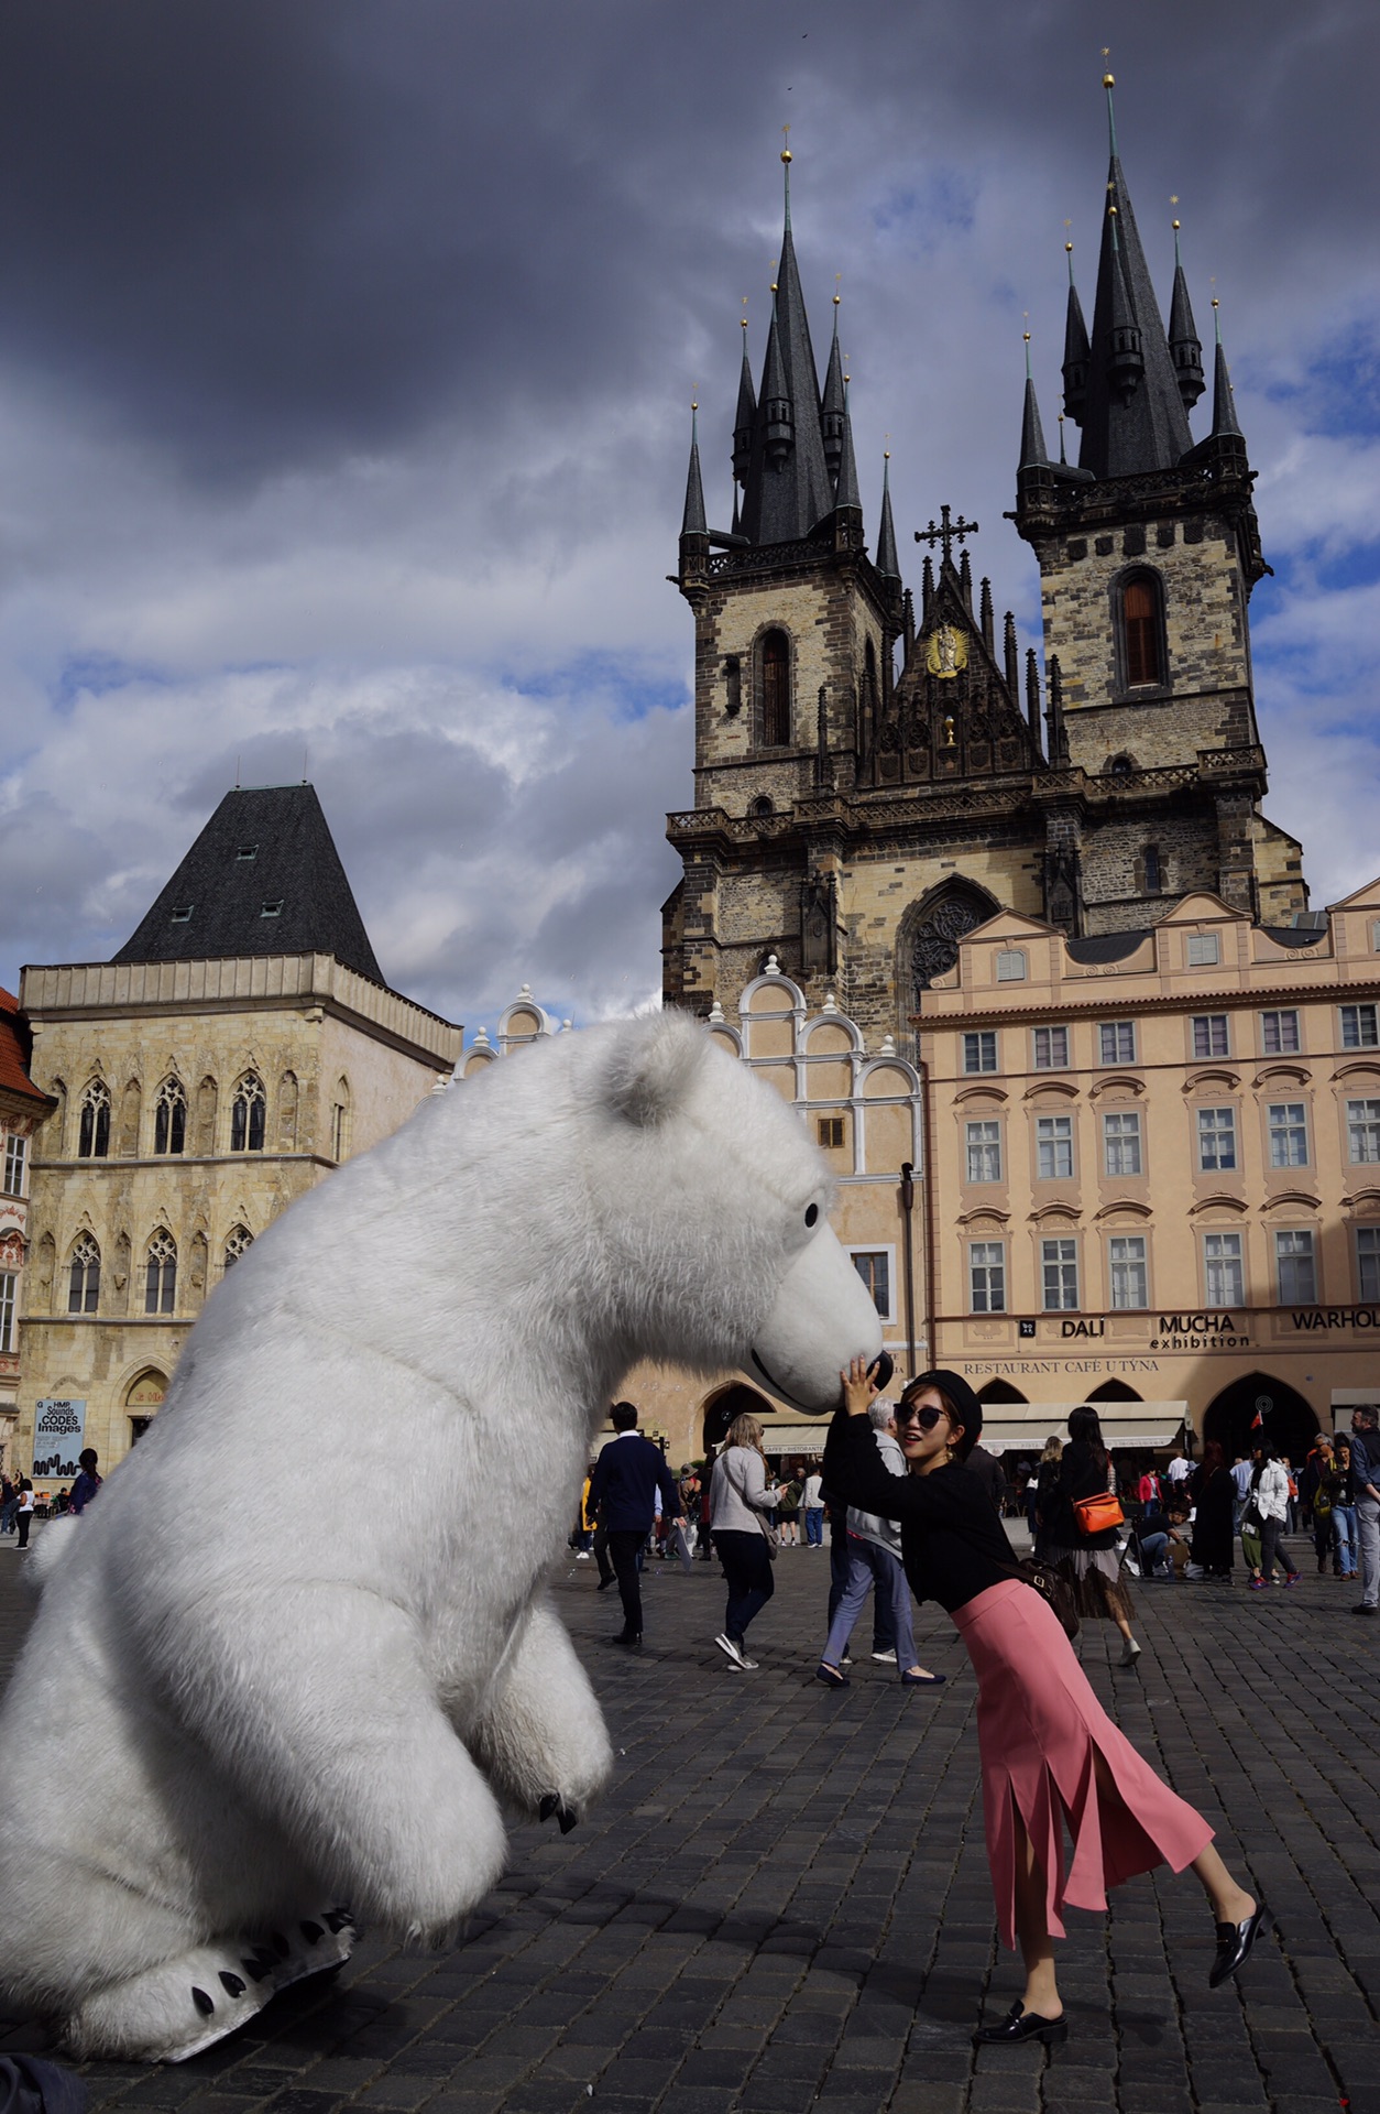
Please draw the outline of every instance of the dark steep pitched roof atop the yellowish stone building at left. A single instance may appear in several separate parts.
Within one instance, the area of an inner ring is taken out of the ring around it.
[[[277,905],[277,909],[271,909]],[[383,983],[315,789],[226,793],[114,962],[332,953]]]

